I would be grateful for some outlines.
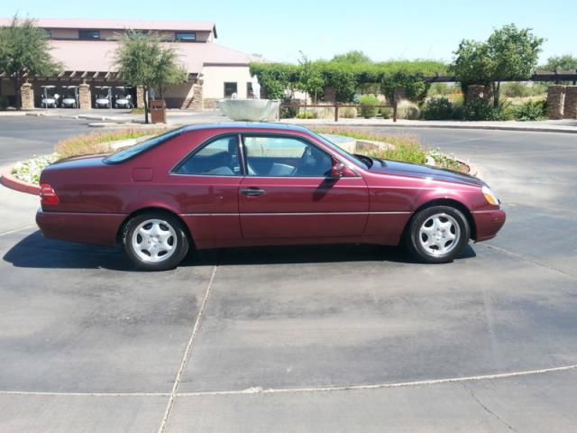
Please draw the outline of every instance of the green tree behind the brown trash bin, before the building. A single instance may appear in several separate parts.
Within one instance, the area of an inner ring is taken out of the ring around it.
[[[118,73],[131,86],[144,88],[144,121],[148,124],[151,88],[164,88],[185,82],[187,71],[179,65],[179,54],[172,46],[162,44],[155,33],[128,31],[120,36],[116,49]]]

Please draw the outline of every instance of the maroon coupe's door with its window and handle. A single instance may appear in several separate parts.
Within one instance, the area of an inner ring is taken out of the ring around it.
[[[334,156],[296,135],[243,134],[242,140],[243,238],[362,235],[369,198],[361,177],[332,179]]]

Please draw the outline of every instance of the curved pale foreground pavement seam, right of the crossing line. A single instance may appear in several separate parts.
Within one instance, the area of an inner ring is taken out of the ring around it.
[[[341,385],[341,386],[319,386],[311,388],[270,388],[262,389],[260,387],[248,388],[239,391],[214,391],[214,392],[179,392],[178,397],[202,397],[206,395],[239,395],[239,394],[276,394],[276,393],[291,393],[291,392],[334,392],[334,391],[360,391],[360,390],[380,390],[385,388],[405,388],[409,386],[426,386],[438,385],[443,383],[462,383],[462,382],[478,382],[490,381],[495,379],[508,379],[511,377],[530,376],[544,373],[565,372],[568,370],[577,369],[577,364],[563,365],[562,367],[543,368],[539,370],[526,370],[521,372],[484,374],[479,376],[463,376],[450,377],[445,379],[431,379],[426,381],[415,382],[391,382],[391,383],[375,383],[369,385]]]

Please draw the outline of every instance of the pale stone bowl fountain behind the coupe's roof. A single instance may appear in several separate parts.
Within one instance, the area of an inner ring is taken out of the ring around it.
[[[231,99],[221,99],[218,107],[233,120],[248,122],[273,122],[279,113],[279,101],[261,99],[261,83],[252,77],[252,99],[239,99],[236,94]]]

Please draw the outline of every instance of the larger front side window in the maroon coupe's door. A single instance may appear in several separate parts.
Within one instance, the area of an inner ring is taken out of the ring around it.
[[[318,177],[331,175],[333,159],[311,143],[284,136],[244,136],[249,176]]]

